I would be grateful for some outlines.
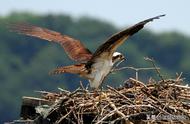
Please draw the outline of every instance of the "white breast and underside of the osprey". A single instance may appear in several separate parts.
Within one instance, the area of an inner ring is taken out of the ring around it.
[[[99,59],[92,65],[92,73],[89,75],[91,77],[90,86],[92,88],[98,88],[104,78],[109,74],[113,66],[112,61],[105,59]]]

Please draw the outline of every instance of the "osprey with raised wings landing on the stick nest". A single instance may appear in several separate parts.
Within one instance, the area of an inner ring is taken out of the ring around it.
[[[78,62],[75,65],[59,67],[51,72],[51,74],[72,73],[78,74],[86,78],[90,82],[91,88],[98,88],[115,63],[124,59],[124,56],[115,52],[115,50],[130,36],[141,30],[144,25],[154,19],[159,19],[165,15],[159,15],[153,18],[141,21],[121,32],[112,35],[98,49],[91,53],[89,49],[74,38],[67,35],[61,35],[58,32],[33,26],[30,24],[12,24],[11,30],[20,34],[38,37],[40,39],[59,43],[68,54],[68,56]]]

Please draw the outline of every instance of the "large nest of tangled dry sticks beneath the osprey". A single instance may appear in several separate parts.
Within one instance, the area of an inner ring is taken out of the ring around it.
[[[58,124],[189,123],[190,87],[182,83],[179,78],[146,84],[130,78],[122,87],[107,86],[102,91],[89,91],[82,85],[73,92],[40,91],[42,97],[36,103],[23,98],[21,117]]]

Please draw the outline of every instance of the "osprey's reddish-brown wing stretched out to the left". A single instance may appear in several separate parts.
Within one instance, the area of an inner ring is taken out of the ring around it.
[[[61,35],[59,32],[26,23],[11,24],[9,27],[11,31],[20,34],[59,43],[72,60],[86,62],[92,57],[91,52],[85,48],[79,40],[73,39],[67,35]]]

